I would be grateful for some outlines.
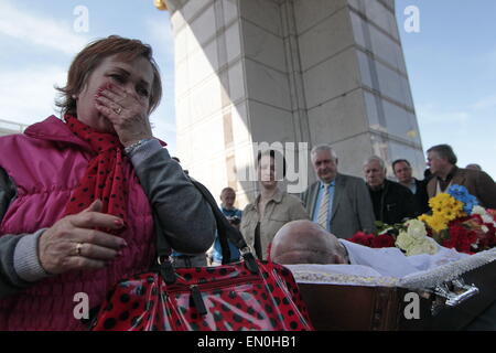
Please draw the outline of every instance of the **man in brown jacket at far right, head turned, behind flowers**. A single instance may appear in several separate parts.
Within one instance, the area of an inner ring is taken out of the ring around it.
[[[449,145],[431,147],[427,152],[434,175],[428,183],[429,197],[445,192],[450,185],[463,185],[477,197],[481,206],[496,208],[496,184],[486,172],[457,168],[456,154]]]

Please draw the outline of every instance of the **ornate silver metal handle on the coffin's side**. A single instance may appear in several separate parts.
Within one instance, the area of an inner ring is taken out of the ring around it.
[[[454,308],[467,299],[478,295],[479,290],[473,284],[465,285],[463,279],[452,280],[451,284],[442,284],[434,288],[436,300],[432,303],[431,312],[438,314],[444,307]]]

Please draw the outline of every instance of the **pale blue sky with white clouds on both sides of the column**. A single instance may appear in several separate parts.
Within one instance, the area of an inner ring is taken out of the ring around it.
[[[496,1],[396,3],[423,148],[451,143],[460,167],[476,162],[496,178]],[[408,6],[419,9],[418,33],[405,31]],[[152,0],[0,0],[0,119],[55,114],[53,87],[64,85],[74,55],[110,34],[154,49],[165,95],[151,120],[174,153],[173,42],[169,13]]]

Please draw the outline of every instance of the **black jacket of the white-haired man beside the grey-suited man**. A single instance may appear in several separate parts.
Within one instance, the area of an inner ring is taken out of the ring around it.
[[[419,213],[411,191],[397,182],[385,180],[380,190],[373,191],[368,186],[368,191],[377,221],[387,224],[401,223]]]

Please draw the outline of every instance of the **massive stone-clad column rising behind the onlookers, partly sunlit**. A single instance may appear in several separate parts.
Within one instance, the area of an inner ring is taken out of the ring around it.
[[[254,142],[331,143],[339,171],[371,156],[424,168],[393,0],[166,0],[177,156],[240,206]],[[308,150],[302,153],[308,153]],[[296,157],[298,158],[298,157]],[[309,182],[315,180],[310,164]],[[390,168],[389,168],[390,169]],[[389,170],[390,171],[390,170]]]

